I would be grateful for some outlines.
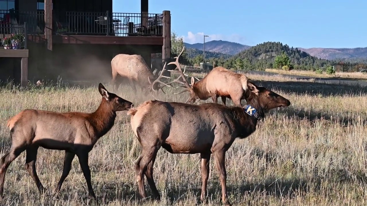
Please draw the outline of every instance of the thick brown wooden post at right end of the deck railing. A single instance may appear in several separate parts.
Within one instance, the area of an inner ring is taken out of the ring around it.
[[[171,58],[171,12],[163,11],[163,47],[162,47],[162,62]],[[162,65],[162,66],[163,66]],[[164,76],[171,76],[170,71],[165,71]]]

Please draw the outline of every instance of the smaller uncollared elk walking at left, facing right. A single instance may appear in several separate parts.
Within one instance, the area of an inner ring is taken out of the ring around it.
[[[55,194],[68,176],[76,155],[87,181],[89,196],[95,198],[88,165],[88,153],[97,140],[112,128],[116,111],[128,110],[134,106],[131,102],[108,92],[101,83],[99,83],[98,90],[102,95],[102,101],[97,110],[90,114],[29,109],[9,119],[7,126],[10,129],[12,145],[10,151],[1,157],[1,197],[4,191],[6,170],[24,150],[26,150],[25,168],[32,176],[39,192],[44,192],[44,187],[36,172],[37,151],[39,147],[43,147],[50,150],[65,150],[62,175],[55,188]]]

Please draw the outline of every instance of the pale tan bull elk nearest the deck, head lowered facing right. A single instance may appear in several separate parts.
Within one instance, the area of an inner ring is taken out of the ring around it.
[[[146,65],[144,59],[140,55],[118,54],[111,60],[111,68],[111,84],[113,85],[114,92],[120,85],[116,84],[116,78],[119,75],[121,76],[121,78],[129,80],[130,85],[135,93],[137,92],[135,84],[138,84],[142,91],[146,89],[146,94],[151,92],[152,89],[154,91],[158,91],[159,89],[161,89],[164,93],[162,87],[164,87],[165,85],[159,86],[157,84],[164,84],[160,81],[164,70],[161,71],[160,76],[158,76],[158,70],[155,74],[153,74],[153,72],[149,69],[148,65]]]

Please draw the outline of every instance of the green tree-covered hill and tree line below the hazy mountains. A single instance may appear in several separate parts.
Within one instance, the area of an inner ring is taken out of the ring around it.
[[[175,32],[171,33],[171,57],[175,57],[181,52],[183,38],[178,37]],[[161,55],[161,54],[160,54]],[[214,66],[223,66],[227,69],[238,70],[265,70],[267,68],[283,70],[330,70],[334,63],[367,63],[363,58],[345,58],[327,60],[311,56],[310,54],[289,47],[280,42],[264,42],[257,44],[236,55],[222,54],[219,52],[205,52],[206,62],[215,63]],[[199,49],[186,48],[183,52],[180,63],[185,65],[199,66],[203,62],[203,51]],[[331,71],[330,71],[331,72]]]

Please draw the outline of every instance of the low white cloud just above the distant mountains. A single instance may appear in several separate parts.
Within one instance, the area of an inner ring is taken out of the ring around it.
[[[245,38],[240,36],[239,34],[231,34],[231,35],[222,35],[222,34],[206,34],[209,37],[205,37],[205,42],[212,40],[223,40],[223,41],[232,41],[240,44],[244,44]],[[187,36],[183,36],[183,42],[189,44],[195,43],[203,43],[204,42],[204,33],[198,32],[196,34],[192,32],[188,32]]]

